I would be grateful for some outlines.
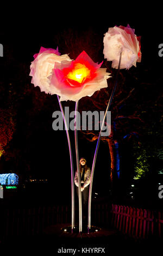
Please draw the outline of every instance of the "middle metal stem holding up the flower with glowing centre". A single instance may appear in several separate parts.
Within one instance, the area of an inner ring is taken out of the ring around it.
[[[78,121],[78,101],[76,102],[76,110],[75,110],[74,136],[75,136],[77,172],[78,172],[79,233],[80,233],[82,232],[82,193],[81,193],[80,168],[79,168],[77,121]]]

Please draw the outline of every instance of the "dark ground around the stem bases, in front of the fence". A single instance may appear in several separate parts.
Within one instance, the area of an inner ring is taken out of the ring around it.
[[[126,255],[161,252],[161,240],[156,237],[149,237],[148,240],[135,240],[131,237],[123,235],[115,229],[101,229],[98,232],[87,234],[83,232],[67,233],[61,228],[67,225],[55,225],[48,227],[45,233],[41,236],[19,236],[8,237],[1,242],[1,249],[6,250],[10,248],[11,251],[16,250],[18,253],[41,253],[39,255],[83,255],[85,253],[95,254],[95,248],[99,250],[98,253],[105,253],[105,255],[119,255],[125,253]],[[91,250],[91,249],[92,250]],[[102,249],[103,248],[103,249]],[[72,252],[70,249],[75,249]]]

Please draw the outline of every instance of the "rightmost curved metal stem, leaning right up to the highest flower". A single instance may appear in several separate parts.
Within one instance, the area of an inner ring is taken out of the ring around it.
[[[107,113],[107,111],[108,111],[108,109],[111,105],[112,97],[114,96],[115,89],[116,89],[116,86],[117,86],[118,74],[120,72],[121,56],[122,56],[122,51],[120,53],[120,60],[119,60],[119,64],[118,64],[117,74],[116,74],[116,81],[115,81],[114,87],[113,87],[112,92],[111,92],[111,96],[110,96],[110,99],[109,99],[109,102],[108,102],[108,106],[106,107],[106,111],[105,111],[105,115],[104,115],[104,118],[103,118],[101,130],[99,132],[98,141],[97,141],[97,144],[96,144],[95,155],[93,157],[92,170],[91,170],[91,182],[90,182],[90,190],[89,190],[88,232],[89,232],[89,229],[91,228],[91,199],[92,199],[92,184],[93,184],[93,174],[94,174],[94,170],[95,170],[95,163],[96,163],[96,158],[97,158],[97,153],[98,153],[98,148],[99,148],[99,142],[101,141],[101,132],[102,132],[102,129],[103,129],[106,113]]]

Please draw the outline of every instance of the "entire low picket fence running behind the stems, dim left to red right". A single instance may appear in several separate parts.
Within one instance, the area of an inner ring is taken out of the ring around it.
[[[75,216],[78,218],[78,209]],[[0,212],[0,240],[13,235],[43,234],[46,227],[71,223],[71,206],[37,206],[28,209],[3,209]],[[92,204],[92,225],[110,224],[124,234],[146,238],[163,236],[163,213],[109,203]]]

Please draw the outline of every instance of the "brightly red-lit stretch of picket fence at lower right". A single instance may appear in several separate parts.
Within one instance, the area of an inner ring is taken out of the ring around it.
[[[123,234],[136,238],[163,235],[163,213],[112,204],[111,223]]]

